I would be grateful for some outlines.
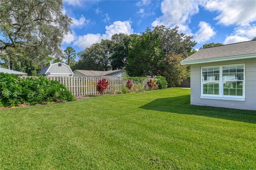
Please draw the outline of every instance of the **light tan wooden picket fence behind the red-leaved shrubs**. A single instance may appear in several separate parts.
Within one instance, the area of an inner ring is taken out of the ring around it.
[[[29,76],[27,76],[29,77]],[[26,78],[23,77],[22,78]],[[103,77],[47,77],[50,80],[58,81],[63,84],[68,91],[72,93],[74,96],[84,96],[84,95],[98,95],[98,91],[96,90],[96,85],[99,79]],[[109,93],[110,91],[120,91],[123,87],[125,87],[127,79],[124,77],[105,77],[108,79],[109,87],[104,90],[104,94]],[[141,88],[147,87],[148,79],[144,79],[142,83],[134,82],[133,89],[139,90]]]

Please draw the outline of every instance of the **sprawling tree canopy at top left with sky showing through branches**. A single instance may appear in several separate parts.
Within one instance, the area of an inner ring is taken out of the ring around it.
[[[0,49],[39,47],[60,50],[72,20],[62,14],[61,0],[0,1]]]

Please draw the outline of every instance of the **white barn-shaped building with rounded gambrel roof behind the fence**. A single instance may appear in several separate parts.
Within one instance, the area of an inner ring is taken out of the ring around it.
[[[42,68],[39,75],[45,75],[46,77],[54,76],[73,76],[74,73],[70,69],[69,65],[64,63],[53,63]]]

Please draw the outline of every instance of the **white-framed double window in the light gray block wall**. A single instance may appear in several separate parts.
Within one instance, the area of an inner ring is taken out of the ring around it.
[[[245,64],[201,67],[201,99],[244,101]]]

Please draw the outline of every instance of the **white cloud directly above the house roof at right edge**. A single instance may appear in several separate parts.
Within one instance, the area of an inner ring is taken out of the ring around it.
[[[234,32],[226,37],[224,44],[250,41],[256,35],[256,25],[238,26]]]

